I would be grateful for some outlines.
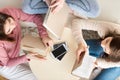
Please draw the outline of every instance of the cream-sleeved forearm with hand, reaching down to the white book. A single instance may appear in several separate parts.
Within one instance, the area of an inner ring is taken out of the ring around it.
[[[76,50],[76,60],[79,63],[81,54],[85,54],[87,52],[87,44],[83,39],[82,29],[79,25],[79,20],[75,19],[72,21],[71,30],[72,30],[73,36],[75,37],[78,43],[78,48]]]

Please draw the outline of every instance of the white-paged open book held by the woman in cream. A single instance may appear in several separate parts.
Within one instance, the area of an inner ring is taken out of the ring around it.
[[[79,64],[75,62],[72,74],[89,79],[93,69],[95,68],[94,62],[96,61],[96,58],[90,56],[88,53],[85,53],[80,57],[80,59],[81,62]]]

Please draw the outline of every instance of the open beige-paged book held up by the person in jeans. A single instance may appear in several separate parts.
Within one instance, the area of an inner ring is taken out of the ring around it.
[[[64,4],[63,8],[57,13],[52,13],[50,9],[45,16],[43,26],[52,33],[57,39],[61,38],[64,27],[68,21],[70,8]]]

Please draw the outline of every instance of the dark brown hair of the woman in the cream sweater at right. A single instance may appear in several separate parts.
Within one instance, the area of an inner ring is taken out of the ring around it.
[[[115,32],[109,33],[106,37],[113,37],[110,42],[110,54],[104,53],[103,58],[107,61],[118,62],[120,61],[120,35]]]

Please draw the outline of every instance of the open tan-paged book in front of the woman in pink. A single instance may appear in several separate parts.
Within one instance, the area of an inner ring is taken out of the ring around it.
[[[35,37],[30,34],[24,36],[21,41],[21,48],[25,52],[35,52],[42,56],[46,56],[48,48],[44,46],[40,37]]]

